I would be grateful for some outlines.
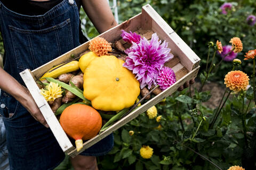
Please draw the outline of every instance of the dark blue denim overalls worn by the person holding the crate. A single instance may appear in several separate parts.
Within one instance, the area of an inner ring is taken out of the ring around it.
[[[36,69],[79,45],[78,24],[74,0],[64,0],[38,16],[10,11],[0,0],[4,70],[23,84],[19,72]],[[10,169],[53,169],[63,160],[65,154],[51,130],[4,91],[0,96],[0,113],[6,128]],[[9,117],[10,113],[13,116]],[[81,155],[104,155],[113,147],[113,141],[111,134]]]

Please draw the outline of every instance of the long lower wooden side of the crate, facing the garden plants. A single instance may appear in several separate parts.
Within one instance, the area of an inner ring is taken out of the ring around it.
[[[149,100],[147,103],[143,104],[142,106],[137,108],[135,111],[133,111],[129,115],[123,117],[121,120],[119,120],[118,122],[116,122],[115,124],[110,126],[106,131],[104,131],[104,132],[98,134],[97,136],[95,136],[94,138],[84,142],[83,143],[84,147],[82,148],[81,151],[77,152],[76,149],[74,149],[74,150],[70,151],[67,154],[71,157],[75,157],[76,155],[78,155],[79,153],[84,151],[85,149],[93,146],[95,143],[97,143],[101,139],[107,137],[107,135],[109,135],[112,132],[116,131],[117,129],[121,128],[124,124],[130,122],[131,120],[133,120],[135,117],[137,117],[141,113],[147,111],[147,109],[149,109],[150,107],[159,103],[165,97],[170,96],[171,94],[173,94],[173,92],[175,92],[186,81],[194,79],[196,77],[197,73],[198,73],[198,70],[199,70],[199,66],[196,69],[194,69],[193,71],[189,72],[186,76],[182,77],[179,81],[172,84],[171,87],[169,87],[165,91],[161,92],[161,94],[155,96],[154,98]]]

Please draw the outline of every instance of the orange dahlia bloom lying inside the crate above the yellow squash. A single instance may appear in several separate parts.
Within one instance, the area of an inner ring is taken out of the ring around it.
[[[108,52],[112,51],[108,41],[101,37],[93,38],[89,43],[89,49],[98,56],[107,55]]]

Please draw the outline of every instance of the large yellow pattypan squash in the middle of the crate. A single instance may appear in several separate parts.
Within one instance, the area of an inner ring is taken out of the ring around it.
[[[115,56],[96,57],[84,70],[84,97],[101,111],[121,111],[132,106],[140,83]]]

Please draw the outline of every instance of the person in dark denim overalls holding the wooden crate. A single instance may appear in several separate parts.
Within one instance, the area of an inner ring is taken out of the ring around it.
[[[53,169],[65,157],[19,72],[33,70],[87,41],[79,23],[81,5],[100,33],[117,25],[105,0],[0,0],[5,47],[0,113],[10,169]],[[71,163],[75,169],[98,169],[95,156],[107,154],[113,145],[111,134]]]

